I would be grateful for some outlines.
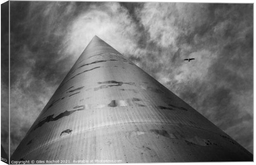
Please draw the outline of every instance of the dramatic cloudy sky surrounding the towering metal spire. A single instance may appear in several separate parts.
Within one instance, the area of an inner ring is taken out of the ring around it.
[[[253,151],[252,4],[10,4],[10,154],[94,35]]]

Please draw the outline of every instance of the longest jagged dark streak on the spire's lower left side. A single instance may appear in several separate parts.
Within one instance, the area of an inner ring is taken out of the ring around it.
[[[76,109],[78,108],[78,109]],[[72,113],[76,112],[76,111],[83,111],[85,109],[85,106],[82,105],[82,106],[75,106],[73,109],[76,109],[76,110],[72,110],[72,111],[65,111],[65,112],[62,112],[60,113],[59,115],[57,115],[55,118],[53,118],[54,114],[53,115],[49,115],[45,118],[43,118],[42,120],[40,120],[40,122],[38,124],[36,124],[34,127],[33,127],[33,130],[36,130],[38,127],[41,127],[42,125],[44,125],[45,123],[48,123],[50,121],[56,121],[56,120],[59,120],[60,118],[63,118],[65,116],[68,116],[68,115],[71,115]]]

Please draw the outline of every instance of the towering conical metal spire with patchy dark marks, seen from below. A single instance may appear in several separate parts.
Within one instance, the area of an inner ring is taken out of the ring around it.
[[[253,156],[95,36],[11,160],[150,163],[252,161]]]

